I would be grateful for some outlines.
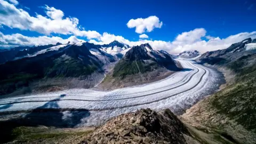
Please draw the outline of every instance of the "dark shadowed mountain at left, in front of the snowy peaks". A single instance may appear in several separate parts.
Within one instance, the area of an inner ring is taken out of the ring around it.
[[[102,66],[103,63],[91,54],[85,45],[75,44],[61,47],[57,51],[46,51],[35,57],[8,61],[0,65],[0,94],[12,93],[20,87],[28,87],[27,91],[31,91],[31,85],[41,79],[53,79],[50,82],[43,82],[43,85],[51,87],[58,85],[54,82],[56,78],[63,81],[60,82],[62,86],[75,86],[79,81],[90,78],[90,81],[87,79],[89,85],[82,85],[90,87],[100,81],[103,75]],[[91,77],[93,73],[97,73],[98,76]],[[75,82],[71,83],[73,81],[70,78],[74,78]]]

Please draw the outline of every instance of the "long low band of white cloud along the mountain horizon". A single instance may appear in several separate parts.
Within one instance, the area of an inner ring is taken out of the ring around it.
[[[201,31],[198,33],[198,31]],[[203,32],[202,32],[203,31]],[[130,46],[140,45],[143,43],[149,43],[153,49],[155,50],[164,50],[171,54],[178,54],[183,51],[194,51],[198,50],[201,53],[206,51],[214,51],[226,49],[233,43],[241,42],[245,38],[256,38],[256,31],[251,33],[239,33],[236,35],[231,35],[226,38],[219,37],[211,37],[208,38],[209,41],[204,41],[201,38],[205,37],[204,35],[205,29],[194,29],[185,33],[181,33],[178,35],[173,42],[166,41],[150,41],[147,39],[142,39],[140,41],[129,41],[125,39],[123,36],[115,36],[109,33],[103,33],[101,37],[99,37],[99,41],[95,41],[95,39],[91,39],[89,42],[94,44],[108,44],[113,41],[119,41],[124,44],[128,44]],[[191,36],[189,39],[187,35]],[[200,37],[201,36],[201,37]],[[39,36],[39,37],[27,37],[21,34],[12,34],[12,35],[4,35],[0,32],[0,47],[14,47],[19,45],[45,45],[45,44],[55,44],[57,42],[67,43],[70,42],[80,42],[83,41],[81,39],[77,39],[75,36],[71,36],[68,39],[62,39],[61,37],[47,37],[47,36]]]

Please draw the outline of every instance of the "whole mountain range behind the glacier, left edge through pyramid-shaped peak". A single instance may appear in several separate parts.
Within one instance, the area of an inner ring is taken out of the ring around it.
[[[130,47],[118,41],[103,45],[68,42],[16,47],[1,51],[0,55],[5,56],[0,60],[0,95],[89,88],[98,85],[105,74],[108,77],[103,82],[108,82],[110,73],[113,79],[124,79],[157,70],[178,70],[165,51],[155,51],[149,44]],[[149,81],[143,80],[146,82]]]

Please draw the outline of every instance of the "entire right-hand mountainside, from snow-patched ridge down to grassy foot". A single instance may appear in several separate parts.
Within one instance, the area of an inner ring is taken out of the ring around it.
[[[199,127],[224,130],[240,143],[254,143],[256,137],[256,39],[247,38],[225,50],[206,52],[197,59],[226,75],[221,91],[187,110],[182,117]],[[255,45],[247,49],[248,45]]]

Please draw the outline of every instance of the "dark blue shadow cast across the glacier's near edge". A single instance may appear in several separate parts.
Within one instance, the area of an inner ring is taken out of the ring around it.
[[[75,127],[81,123],[81,119],[90,116],[87,109],[62,109],[58,102],[65,94],[53,99],[43,106],[34,109],[31,113],[23,117],[26,125],[54,126],[54,127]]]

